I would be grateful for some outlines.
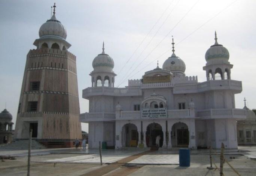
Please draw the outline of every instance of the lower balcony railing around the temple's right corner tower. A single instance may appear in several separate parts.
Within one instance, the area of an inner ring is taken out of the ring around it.
[[[197,111],[201,118],[246,118],[245,109],[206,109]]]

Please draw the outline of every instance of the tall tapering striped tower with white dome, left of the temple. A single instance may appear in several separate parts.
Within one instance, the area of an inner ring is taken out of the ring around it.
[[[70,147],[81,138],[76,56],[54,12],[27,54],[15,127],[16,139],[32,137],[49,147]]]

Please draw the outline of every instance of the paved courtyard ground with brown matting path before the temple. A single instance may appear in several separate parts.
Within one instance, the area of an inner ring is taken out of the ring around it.
[[[145,149],[103,150],[103,163],[107,164],[101,166],[98,149],[86,149],[85,151],[74,148],[33,150],[30,175],[219,175],[218,170],[206,169],[210,166],[209,150],[207,149],[191,151],[190,167],[179,167],[178,150],[145,151]],[[16,160],[0,161],[0,175],[27,175],[27,151],[1,151],[0,149],[0,155],[12,155],[17,158]],[[225,150],[225,159],[240,175],[256,175],[256,146],[240,146],[238,150]],[[136,165],[126,167],[123,166],[125,163]],[[219,150],[213,151],[213,163],[219,167]],[[224,164],[224,174],[225,176],[237,175],[227,162]]]

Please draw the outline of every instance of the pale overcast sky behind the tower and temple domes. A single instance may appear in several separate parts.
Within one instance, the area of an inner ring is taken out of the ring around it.
[[[243,92],[235,95],[236,108],[243,108],[244,97],[250,109],[256,108],[255,0],[0,0],[0,110],[6,102],[14,123],[26,55],[36,48],[33,42],[50,18],[54,2],[56,17],[72,45],[69,51],[77,57],[81,113],[88,112],[82,89],[91,86],[92,61],[101,53],[103,40],[105,53],[115,62],[115,86],[141,78],[156,67],[157,60],[162,67],[171,56],[172,35],[175,53],[186,64],[185,74],[197,75],[203,82],[204,55],[214,44],[215,30],[234,65],[231,79],[243,83]],[[88,131],[87,124],[82,129]]]

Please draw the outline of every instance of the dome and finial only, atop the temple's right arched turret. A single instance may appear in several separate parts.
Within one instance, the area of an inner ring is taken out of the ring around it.
[[[217,35],[215,32],[215,43],[205,53],[205,60],[208,62],[211,59],[220,59],[227,62],[229,59],[228,50],[217,42]]]

